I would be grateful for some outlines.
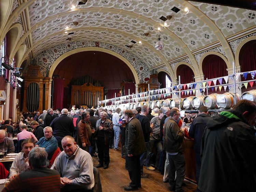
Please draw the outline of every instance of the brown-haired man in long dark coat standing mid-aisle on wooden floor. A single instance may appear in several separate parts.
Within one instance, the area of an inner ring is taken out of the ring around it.
[[[125,151],[131,182],[124,189],[135,191],[141,187],[140,156],[146,151],[146,145],[140,121],[133,117],[131,110],[125,111],[125,120],[128,122],[125,132]]]

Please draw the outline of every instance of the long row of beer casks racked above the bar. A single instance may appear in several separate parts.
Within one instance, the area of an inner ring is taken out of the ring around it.
[[[256,90],[244,92],[241,97],[238,93],[236,96],[234,93],[226,92],[224,94],[213,93],[210,95],[200,95],[197,97],[190,96],[187,98],[181,98],[181,103],[178,98],[150,101],[150,102],[138,102],[138,103],[126,103],[120,105],[110,105],[107,109],[115,110],[117,107],[121,109],[135,109],[141,105],[148,105],[150,108],[155,106],[160,107],[177,107],[181,109],[199,109],[201,106],[206,106],[208,109],[230,109],[234,106],[234,100],[246,99],[250,101],[256,101]],[[179,106],[181,105],[181,106]]]

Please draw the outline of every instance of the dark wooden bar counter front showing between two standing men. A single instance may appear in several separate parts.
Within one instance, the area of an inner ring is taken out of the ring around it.
[[[196,159],[194,152],[194,140],[185,138],[184,157],[186,161],[185,179],[196,183]]]

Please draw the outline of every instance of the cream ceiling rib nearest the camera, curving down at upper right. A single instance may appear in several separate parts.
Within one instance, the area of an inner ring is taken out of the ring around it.
[[[226,56],[229,61],[228,68],[232,67],[232,61],[234,61],[233,52],[232,52],[231,47],[230,47],[229,43],[227,42],[225,36],[223,35],[222,31],[216,26],[216,24],[207,15],[205,15],[201,10],[196,8],[193,4],[189,3],[188,1],[184,1],[184,0],[175,0],[175,1],[188,7],[189,10],[194,12],[202,21],[204,21],[205,24],[207,24],[212,29],[212,31],[214,31],[219,42],[221,43],[221,45],[223,46],[223,48],[225,50]]]

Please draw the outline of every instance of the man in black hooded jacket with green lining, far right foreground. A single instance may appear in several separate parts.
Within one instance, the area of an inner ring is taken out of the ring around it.
[[[201,146],[200,191],[255,192],[255,121],[255,103],[240,100],[207,122]]]

